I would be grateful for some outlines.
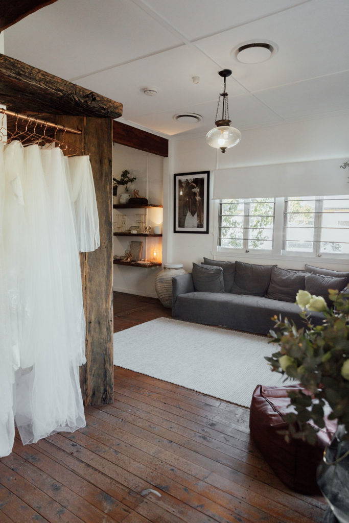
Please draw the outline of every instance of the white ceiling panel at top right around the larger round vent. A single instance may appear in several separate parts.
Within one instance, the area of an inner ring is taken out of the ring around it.
[[[196,45],[253,92],[349,69],[348,20],[348,0],[312,0]],[[275,42],[278,52],[264,63],[242,64],[231,50],[249,40]]]

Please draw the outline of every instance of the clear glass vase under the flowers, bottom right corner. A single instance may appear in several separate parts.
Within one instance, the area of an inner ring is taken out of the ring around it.
[[[318,485],[334,516],[349,523],[349,440],[339,426],[318,468]]]

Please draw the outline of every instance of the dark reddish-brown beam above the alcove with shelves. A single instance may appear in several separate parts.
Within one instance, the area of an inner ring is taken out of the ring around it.
[[[112,122],[112,141],[147,153],[168,156],[168,140],[166,138],[128,126],[126,123]]]

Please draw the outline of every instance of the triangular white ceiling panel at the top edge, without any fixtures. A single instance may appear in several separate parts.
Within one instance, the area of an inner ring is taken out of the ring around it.
[[[143,0],[143,3],[193,40],[287,9],[302,0]]]

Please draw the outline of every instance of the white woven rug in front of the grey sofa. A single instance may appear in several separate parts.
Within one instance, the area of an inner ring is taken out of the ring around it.
[[[257,384],[282,385],[254,334],[158,318],[114,334],[114,365],[249,407]]]

